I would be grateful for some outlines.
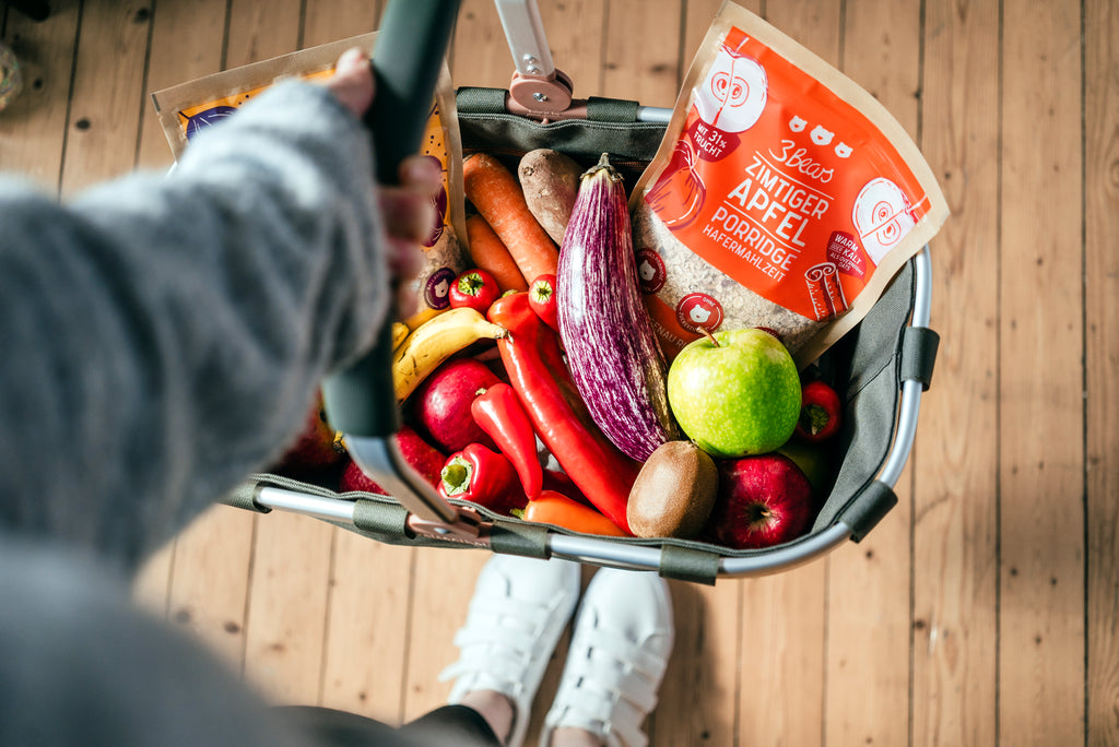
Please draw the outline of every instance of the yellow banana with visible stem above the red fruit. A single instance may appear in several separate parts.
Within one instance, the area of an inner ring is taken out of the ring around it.
[[[424,322],[393,352],[396,401],[404,401],[440,363],[478,340],[507,334],[473,309],[451,309]]]

